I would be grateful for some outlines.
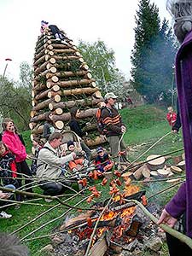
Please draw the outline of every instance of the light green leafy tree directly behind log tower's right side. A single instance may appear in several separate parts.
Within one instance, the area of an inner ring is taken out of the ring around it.
[[[80,41],[78,48],[84,61],[90,67],[93,78],[96,79],[99,88],[105,93],[107,84],[117,80],[118,69],[115,67],[113,49],[108,49],[101,40],[93,44]]]

